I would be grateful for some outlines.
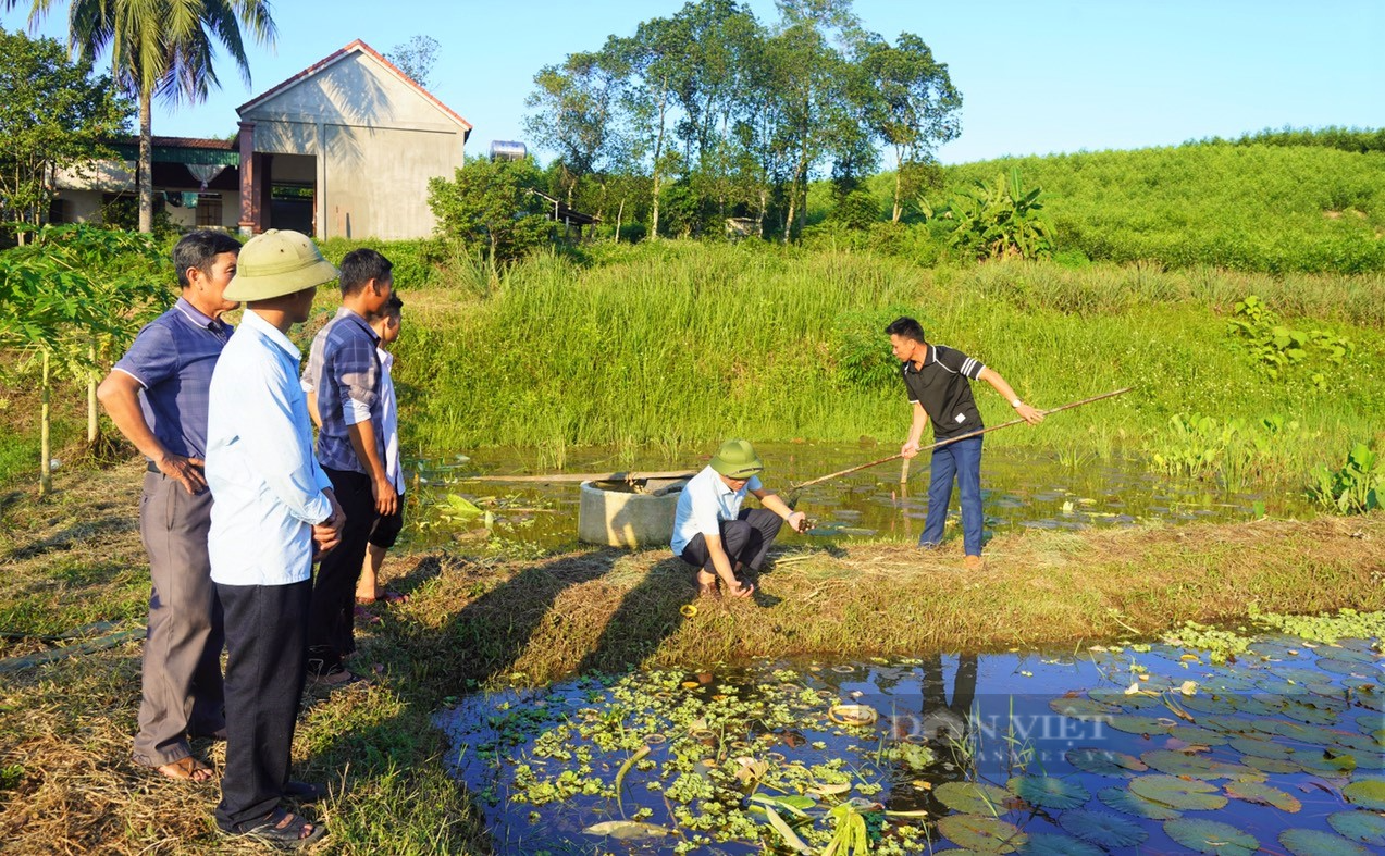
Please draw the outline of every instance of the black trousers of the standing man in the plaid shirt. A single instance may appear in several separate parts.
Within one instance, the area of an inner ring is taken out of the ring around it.
[[[313,605],[307,615],[307,659],[314,675],[341,666],[356,650],[356,580],[366,561],[366,546],[375,528],[375,499],[370,476],[346,470],[323,468],[332,482],[337,501],[346,514],[341,543],[323,557],[313,582]]]

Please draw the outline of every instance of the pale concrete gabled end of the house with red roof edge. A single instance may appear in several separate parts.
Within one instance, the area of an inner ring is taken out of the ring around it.
[[[319,238],[431,234],[428,180],[450,179],[463,165],[471,132],[465,119],[363,42],[237,112],[241,230],[276,226],[270,186],[310,181]]]

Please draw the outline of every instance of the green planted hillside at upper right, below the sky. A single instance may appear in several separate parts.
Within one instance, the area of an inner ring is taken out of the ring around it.
[[[1060,258],[1241,271],[1385,270],[1385,152],[1181,145],[945,169],[939,206],[1018,168],[1043,187]],[[879,180],[881,186],[886,181]]]

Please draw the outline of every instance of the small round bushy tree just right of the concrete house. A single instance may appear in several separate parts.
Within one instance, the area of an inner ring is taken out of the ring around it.
[[[548,235],[546,201],[537,195],[543,176],[533,161],[467,159],[453,180],[429,179],[428,208],[438,231],[481,252],[492,284],[500,265],[522,258]]]

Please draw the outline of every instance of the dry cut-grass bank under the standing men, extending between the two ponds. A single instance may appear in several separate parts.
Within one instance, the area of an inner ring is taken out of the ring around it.
[[[0,535],[0,657],[94,621],[137,627],[147,576],[137,464],[60,472],[43,503],[10,493]],[[410,601],[361,637],[368,690],[310,690],[294,774],[328,781],[316,814],[339,853],[483,852],[479,814],[447,776],[431,712],[478,686],[572,670],[737,657],[1062,647],[1263,611],[1385,608],[1385,517],[1026,532],[989,568],[900,544],[781,555],[753,601],[695,601],[665,550],[536,561],[411,554],[386,565]],[[697,614],[681,607],[694,603]],[[134,766],[140,644],[4,675],[0,835],[12,852],[237,852],[211,826],[215,785]],[[195,747],[222,760],[220,747]],[[249,850],[247,848],[247,850]],[[258,850],[255,850],[258,852]]]

